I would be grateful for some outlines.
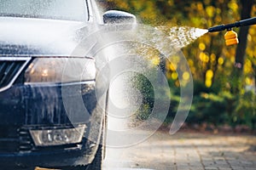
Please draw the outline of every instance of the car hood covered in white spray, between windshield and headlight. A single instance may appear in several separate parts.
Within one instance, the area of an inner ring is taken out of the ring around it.
[[[79,21],[0,17],[0,55],[71,56],[89,27]]]

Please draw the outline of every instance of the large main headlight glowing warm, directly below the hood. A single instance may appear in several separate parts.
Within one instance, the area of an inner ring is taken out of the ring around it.
[[[25,72],[26,83],[95,80],[95,60],[90,58],[36,58]]]

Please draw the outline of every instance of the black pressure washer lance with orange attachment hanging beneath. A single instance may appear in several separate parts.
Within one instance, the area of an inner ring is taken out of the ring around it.
[[[226,45],[230,46],[230,45],[239,43],[239,40],[237,38],[237,33],[232,30],[233,27],[251,26],[255,24],[256,24],[256,17],[253,17],[247,20],[236,21],[233,24],[213,26],[212,28],[208,29],[208,32],[227,30],[226,34],[224,35],[224,38],[225,38]]]

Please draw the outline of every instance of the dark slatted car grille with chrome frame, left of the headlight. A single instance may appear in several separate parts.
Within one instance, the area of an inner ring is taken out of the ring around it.
[[[0,92],[9,88],[30,58],[0,58]]]

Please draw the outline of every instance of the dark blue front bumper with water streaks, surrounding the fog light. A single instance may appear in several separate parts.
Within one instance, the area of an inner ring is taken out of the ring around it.
[[[71,91],[76,90],[66,94],[66,98],[81,95],[89,116],[84,116],[75,104],[67,111],[63,105],[62,86],[15,85],[0,93],[0,169],[79,166],[93,160],[104,116],[104,111],[97,106],[95,82],[65,85]],[[79,124],[87,127],[79,144],[38,147],[29,133],[29,129],[67,128]]]

